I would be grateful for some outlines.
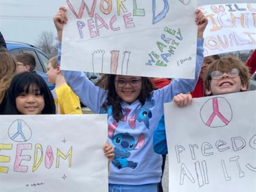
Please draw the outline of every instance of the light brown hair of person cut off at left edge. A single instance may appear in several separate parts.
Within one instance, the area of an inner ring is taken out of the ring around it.
[[[16,72],[16,62],[8,52],[0,52],[0,104]]]

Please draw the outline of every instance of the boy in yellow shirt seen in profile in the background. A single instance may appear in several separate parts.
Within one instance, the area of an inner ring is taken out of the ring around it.
[[[58,66],[57,57],[53,57],[47,64],[47,79],[55,84],[51,91],[54,96],[57,114],[82,114],[80,100],[67,85],[61,68]]]

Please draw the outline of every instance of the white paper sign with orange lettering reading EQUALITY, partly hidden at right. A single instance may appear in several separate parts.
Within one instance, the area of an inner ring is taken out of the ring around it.
[[[209,20],[205,56],[256,49],[256,3],[200,6]]]

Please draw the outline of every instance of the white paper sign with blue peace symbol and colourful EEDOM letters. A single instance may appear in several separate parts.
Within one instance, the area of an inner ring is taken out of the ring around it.
[[[108,192],[106,115],[0,116],[1,192]]]

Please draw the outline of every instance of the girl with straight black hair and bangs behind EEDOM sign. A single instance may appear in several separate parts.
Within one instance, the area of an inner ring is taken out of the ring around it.
[[[55,111],[53,95],[40,75],[26,72],[13,77],[4,114],[38,115]]]

